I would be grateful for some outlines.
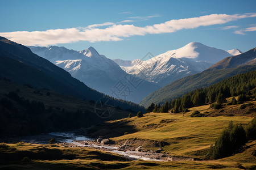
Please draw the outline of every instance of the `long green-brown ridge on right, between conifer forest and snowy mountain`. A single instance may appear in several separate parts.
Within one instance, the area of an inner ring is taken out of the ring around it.
[[[255,70],[255,49],[251,49],[238,56],[226,57],[202,73],[176,80],[160,88],[158,91],[152,92],[152,94],[142,100],[141,104],[144,107],[148,107],[151,103],[163,103],[167,100],[176,99],[189,91],[196,90],[196,88],[208,87],[230,76]]]

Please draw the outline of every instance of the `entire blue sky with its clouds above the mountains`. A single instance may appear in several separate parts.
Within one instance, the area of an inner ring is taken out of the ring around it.
[[[0,36],[24,45],[93,46],[112,59],[156,56],[193,41],[242,52],[256,46],[255,0],[3,0],[1,6]]]

